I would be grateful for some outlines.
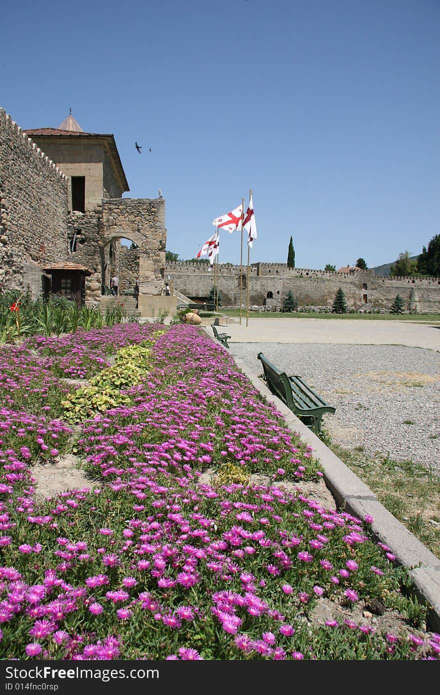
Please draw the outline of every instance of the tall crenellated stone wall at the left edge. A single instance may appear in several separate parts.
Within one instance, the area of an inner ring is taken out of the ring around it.
[[[42,291],[41,266],[67,260],[67,179],[0,108],[0,286]]]

